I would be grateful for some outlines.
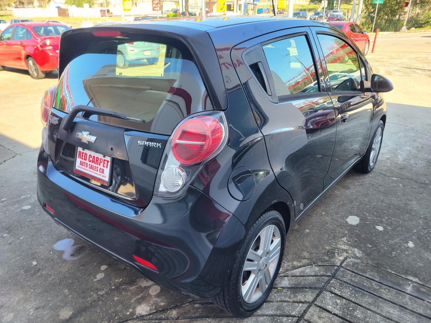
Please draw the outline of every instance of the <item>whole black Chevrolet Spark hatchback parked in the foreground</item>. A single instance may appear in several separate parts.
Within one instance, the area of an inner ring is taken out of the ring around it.
[[[42,207],[156,283],[234,315],[268,297],[307,208],[350,168],[376,165],[392,84],[331,25],[135,22],[60,43],[41,107]]]

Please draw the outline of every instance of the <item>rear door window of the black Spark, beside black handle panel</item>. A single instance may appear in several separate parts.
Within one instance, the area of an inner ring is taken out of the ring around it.
[[[318,92],[316,70],[305,35],[263,45],[277,96]]]

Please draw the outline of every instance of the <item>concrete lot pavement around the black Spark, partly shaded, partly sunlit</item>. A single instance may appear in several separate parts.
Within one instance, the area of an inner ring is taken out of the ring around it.
[[[379,35],[394,83],[378,164],[350,171],[290,230],[246,322],[431,322],[431,34]],[[232,322],[57,226],[36,198],[40,100],[57,75],[0,72],[0,322]]]

